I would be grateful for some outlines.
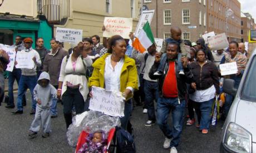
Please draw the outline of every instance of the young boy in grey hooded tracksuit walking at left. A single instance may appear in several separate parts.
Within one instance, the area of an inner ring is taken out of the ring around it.
[[[34,99],[37,101],[36,115],[29,130],[29,137],[34,138],[43,127],[42,137],[50,136],[52,99],[57,98],[57,90],[50,84],[50,75],[42,72],[34,89]]]

